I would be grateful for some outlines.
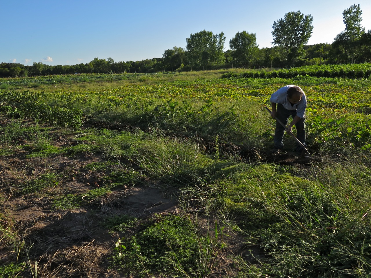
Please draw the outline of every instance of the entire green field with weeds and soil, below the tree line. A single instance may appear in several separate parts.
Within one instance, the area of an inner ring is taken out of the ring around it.
[[[241,76],[0,79],[0,277],[370,277],[370,79]]]

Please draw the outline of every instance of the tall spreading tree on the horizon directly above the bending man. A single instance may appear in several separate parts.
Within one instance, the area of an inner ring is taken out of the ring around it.
[[[312,36],[312,22],[311,14],[304,16],[300,11],[290,11],[272,25],[272,44],[282,47],[286,59],[292,60],[293,66],[295,60],[303,55],[303,47]]]

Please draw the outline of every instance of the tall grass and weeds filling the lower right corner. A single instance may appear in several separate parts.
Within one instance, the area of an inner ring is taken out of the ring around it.
[[[368,277],[371,171],[365,162],[313,165],[307,178],[287,166],[232,163],[182,197],[233,220],[247,250],[259,246],[241,263],[246,277]]]

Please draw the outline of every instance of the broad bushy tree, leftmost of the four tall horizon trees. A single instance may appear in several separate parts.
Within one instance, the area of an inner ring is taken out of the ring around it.
[[[213,34],[213,32],[203,30],[191,34],[186,41],[186,57],[190,66],[209,69],[225,63],[223,50],[226,37],[223,32]]]

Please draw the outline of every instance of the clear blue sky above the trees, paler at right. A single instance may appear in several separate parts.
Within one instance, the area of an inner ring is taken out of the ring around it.
[[[152,59],[174,46],[185,49],[186,38],[202,30],[224,32],[225,50],[243,30],[256,34],[260,48],[271,47],[273,22],[298,10],[313,16],[308,44],[332,43],[345,29],[343,10],[352,4],[360,4],[362,26],[370,30],[370,0],[0,0],[0,62]]]

